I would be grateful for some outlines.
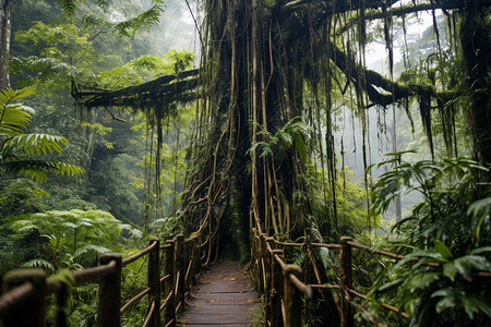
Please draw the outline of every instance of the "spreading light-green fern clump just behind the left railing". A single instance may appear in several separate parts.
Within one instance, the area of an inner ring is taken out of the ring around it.
[[[82,268],[96,264],[97,256],[121,250],[121,232],[130,238],[141,238],[137,229],[124,225],[103,210],[46,211],[26,214],[7,219],[15,238],[36,231],[38,242],[45,244],[41,261],[29,265],[44,266],[49,261],[56,270],[59,267]]]

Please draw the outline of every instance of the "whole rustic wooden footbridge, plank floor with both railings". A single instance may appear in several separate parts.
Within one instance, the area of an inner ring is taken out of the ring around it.
[[[121,326],[121,315],[145,296],[147,316],[141,322],[144,327],[252,326],[251,316],[259,307],[262,307],[264,317],[263,325],[256,325],[297,327],[302,326],[302,312],[308,302],[306,299],[324,296],[326,292],[332,292],[335,299],[335,312],[340,317],[340,326],[354,326],[355,311],[363,311],[363,307],[351,300],[370,299],[352,287],[352,250],[392,259],[402,258],[399,255],[352,242],[350,238],[342,238],[339,244],[279,242],[262,232],[258,222],[250,234],[249,271],[254,290],[262,296],[261,306],[248,278],[243,271],[238,270],[237,265],[226,263],[206,267],[212,251],[211,238],[204,239],[195,234],[189,239],[183,235],[166,241],[151,239],[148,247],[130,257],[122,258],[115,253],[104,254],[98,267],[60,272],[49,278],[43,270],[10,271],[3,278],[0,319],[5,327],[44,326],[46,296],[55,293],[56,326],[68,326],[69,313],[63,308],[67,306],[71,286],[98,281],[97,325],[104,327]],[[303,269],[287,263],[285,252],[294,247],[304,254]],[[320,267],[311,256],[315,247],[338,252],[340,264],[337,267],[337,284],[327,284],[322,280]],[[122,304],[122,268],[144,257],[147,261],[148,287]],[[435,263],[428,265],[439,266]],[[307,270],[312,274],[304,274]],[[379,305],[396,313],[400,319],[408,318],[394,306],[384,303]],[[370,315],[369,319],[376,323]]]

